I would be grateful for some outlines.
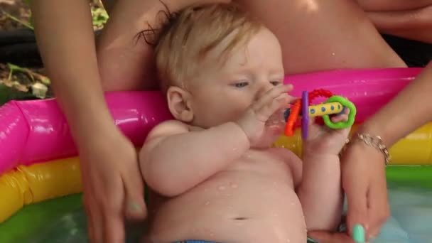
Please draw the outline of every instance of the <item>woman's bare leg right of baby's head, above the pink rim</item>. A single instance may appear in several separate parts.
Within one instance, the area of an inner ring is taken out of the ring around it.
[[[406,66],[354,1],[238,2],[276,33],[288,73]]]

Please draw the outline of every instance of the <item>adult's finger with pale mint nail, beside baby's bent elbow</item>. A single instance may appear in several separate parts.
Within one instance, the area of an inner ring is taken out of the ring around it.
[[[122,176],[124,182],[125,215],[131,220],[144,220],[147,215],[146,202],[144,202],[144,181],[139,170],[131,170]]]

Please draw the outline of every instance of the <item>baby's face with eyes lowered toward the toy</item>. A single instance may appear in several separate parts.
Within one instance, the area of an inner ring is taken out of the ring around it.
[[[265,92],[284,81],[281,46],[266,28],[252,36],[247,46],[234,48],[224,65],[222,47],[212,50],[188,81],[193,125],[208,128],[235,121]]]

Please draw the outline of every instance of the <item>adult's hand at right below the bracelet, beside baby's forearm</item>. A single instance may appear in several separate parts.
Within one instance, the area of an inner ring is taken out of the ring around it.
[[[347,230],[365,227],[366,240],[377,237],[390,211],[384,156],[362,141],[352,141],[342,153],[342,187],[347,195]]]

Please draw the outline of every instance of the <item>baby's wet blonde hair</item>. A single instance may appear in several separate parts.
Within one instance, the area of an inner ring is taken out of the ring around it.
[[[189,6],[178,13],[167,8],[161,28],[143,31],[146,42],[155,47],[156,70],[161,90],[171,85],[183,86],[199,70],[207,53],[227,40],[222,63],[234,48],[247,43],[261,28],[261,23],[235,4]],[[152,43],[148,33],[153,34]],[[229,36],[229,38],[227,38]]]

